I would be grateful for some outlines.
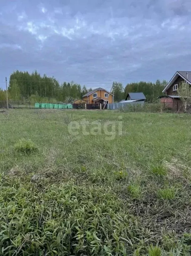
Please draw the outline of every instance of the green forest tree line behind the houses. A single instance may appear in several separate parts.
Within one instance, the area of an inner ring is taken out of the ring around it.
[[[113,82],[112,93],[114,101],[118,102],[125,99],[128,92],[143,92],[148,101],[155,101],[162,95],[162,90],[167,84],[166,80],[156,80],[152,82],[133,82],[125,87],[120,82]],[[8,97],[15,101],[72,101],[82,98],[84,94],[92,88],[81,86],[79,83],[63,82],[59,83],[55,77],[48,77],[46,74],[41,76],[37,70],[30,74],[27,71],[16,70],[10,75],[8,86]],[[6,100],[6,93],[0,89],[0,100]]]

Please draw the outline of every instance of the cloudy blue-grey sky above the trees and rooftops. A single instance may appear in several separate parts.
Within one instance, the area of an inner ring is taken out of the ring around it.
[[[191,70],[190,0],[0,0],[0,87],[18,69],[109,89]]]

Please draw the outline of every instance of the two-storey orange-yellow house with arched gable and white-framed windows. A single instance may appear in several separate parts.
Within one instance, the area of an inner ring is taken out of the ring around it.
[[[105,104],[113,103],[113,97],[114,95],[112,93],[109,93],[107,90],[98,87],[83,95],[83,100],[88,104]]]

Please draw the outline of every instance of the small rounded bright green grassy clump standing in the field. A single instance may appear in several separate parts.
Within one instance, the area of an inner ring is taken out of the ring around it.
[[[17,144],[15,144],[14,149],[16,152],[21,154],[35,154],[38,152],[38,148],[31,140],[21,139]]]

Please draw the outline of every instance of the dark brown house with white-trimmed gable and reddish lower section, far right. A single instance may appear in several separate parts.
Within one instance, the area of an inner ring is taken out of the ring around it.
[[[191,85],[191,71],[177,71],[162,91],[166,95],[158,97],[160,102],[175,111],[182,110],[183,102],[177,93],[177,89],[183,81]]]

